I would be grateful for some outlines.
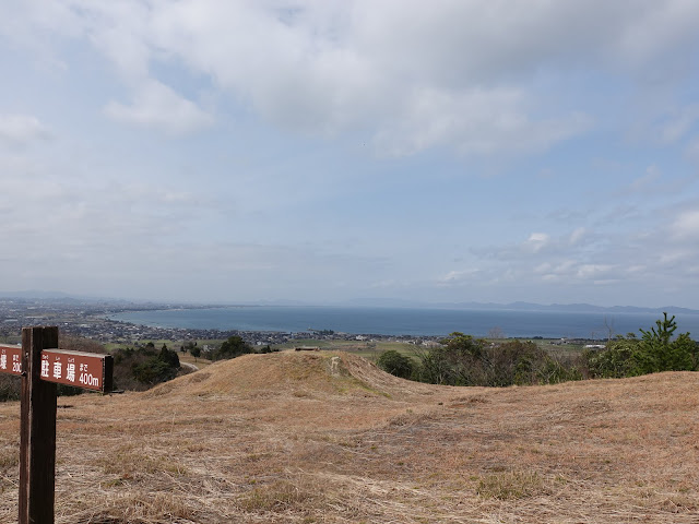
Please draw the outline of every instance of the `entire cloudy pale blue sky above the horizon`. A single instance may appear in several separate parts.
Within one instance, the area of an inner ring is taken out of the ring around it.
[[[0,290],[699,309],[695,0],[3,0]]]

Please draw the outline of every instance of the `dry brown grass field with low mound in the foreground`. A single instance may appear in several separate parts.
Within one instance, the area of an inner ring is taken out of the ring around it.
[[[58,524],[698,523],[699,374],[406,382],[347,354],[250,355],[60,398]],[[0,406],[16,522],[19,405]]]

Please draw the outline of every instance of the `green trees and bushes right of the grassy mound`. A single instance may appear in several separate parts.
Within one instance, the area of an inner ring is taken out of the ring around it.
[[[414,358],[384,352],[378,366],[404,379],[446,385],[553,384],[569,380],[623,378],[660,371],[699,370],[699,343],[689,333],[674,336],[675,317],[609,341],[604,349],[585,349],[556,358],[529,341],[493,342],[452,333],[441,344],[417,349]]]

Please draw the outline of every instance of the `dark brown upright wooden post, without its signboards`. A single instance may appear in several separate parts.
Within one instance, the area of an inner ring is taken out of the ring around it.
[[[20,524],[54,524],[56,384],[40,379],[42,349],[58,347],[58,327],[22,329]]]

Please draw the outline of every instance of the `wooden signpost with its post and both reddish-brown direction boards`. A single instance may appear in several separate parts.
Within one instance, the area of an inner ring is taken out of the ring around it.
[[[22,347],[0,345],[0,372],[22,377],[19,524],[54,524],[56,384],[111,391],[111,355],[57,348],[55,326],[23,327]]]

